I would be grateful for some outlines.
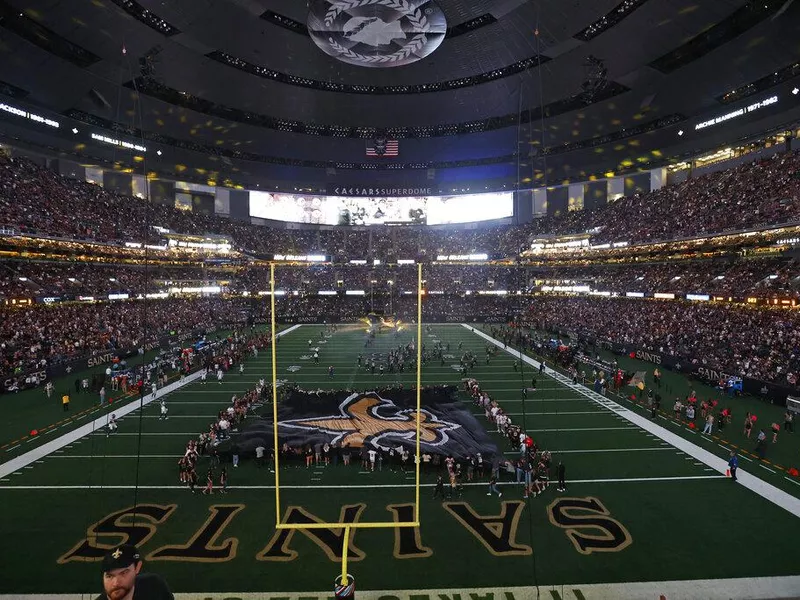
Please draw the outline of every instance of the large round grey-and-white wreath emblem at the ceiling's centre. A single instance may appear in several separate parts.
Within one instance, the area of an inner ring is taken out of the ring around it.
[[[342,62],[399,67],[436,50],[447,21],[432,0],[310,0],[308,31]]]

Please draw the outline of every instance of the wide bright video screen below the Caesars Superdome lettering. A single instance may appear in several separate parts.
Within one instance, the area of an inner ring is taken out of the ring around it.
[[[250,216],[316,225],[442,225],[514,215],[511,192],[464,196],[352,198],[250,192]]]

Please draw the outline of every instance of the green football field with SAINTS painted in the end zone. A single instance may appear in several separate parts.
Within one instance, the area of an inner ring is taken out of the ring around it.
[[[423,329],[426,346],[441,341],[450,348],[444,364],[437,359],[424,365],[423,385],[463,389],[458,359],[472,351],[478,360],[469,376],[540,449],[552,452],[554,462],[564,462],[567,490],[559,493],[551,482],[542,495],[524,499],[514,474],[503,472],[502,497],[487,495],[486,479],[476,479],[443,502],[432,497],[436,471],[423,469],[418,529],[364,529],[351,536],[348,570],[358,596],[800,595],[800,500],[791,493],[792,487],[800,493],[800,486],[771,485],[749,459],[740,464],[740,483],[733,483],[725,476],[727,449],[695,444],[694,432],[678,435],[631,405],[561,375],[539,374],[534,361],[526,357],[519,364],[502,343],[487,364],[485,349],[497,343],[484,330],[458,324]],[[278,379],[305,390],[413,387],[414,370],[372,374],[358,366],[358,356],[385,355],[415,338],[413,328],[397,336],[381,333],[365,348],[361,325],[333,333],[299,326],[277,344]],[[309,340],[319,348],[319,364]],[[168,394],[167,420],[159,419],[154,402],[122,418],[113,435],[94,429],[52,452],[39,447],[36,460],[3,474],[0,595],[97,594],[99,557],[124,541],[140,547],[146,570],[161,573],[187,598],[331,595],[343,532],[276,531],[275,475],[268,465],[259,468],[249,456],[238,468],[228,464],[227,494],[191,494],[178,481],[186,442],[208,431],[231,396],[252,389],[261,377],[270,381],[269,352],[221,384],[193,381]],[[524,394],[532,377],[536,391]],[[467,394],[461,400],[513,459],[517,452],[483,410]],[[271,415],[272,407],[260,411]],[[200,458],[201,477],[208,460]],[[347,467],[281,464],[284,521],[411,520],[414,472],[394,467],[365,471],[355,458]]]

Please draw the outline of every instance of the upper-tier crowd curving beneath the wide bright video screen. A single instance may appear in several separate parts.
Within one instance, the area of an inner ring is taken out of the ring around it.
[[[678,239],[797,221],[800,153],[779,154],[683,183],[621,198],[596,210],[535,219],[523,226],[383,227],[367,230],[268,228],[182,211],[63,178],[22,158],[0,157],[0,226],[20,233],[120,243],[161,239],[155,226],[218,234],[255,255],[432,258],[487,252],[513,256],[531,236],[593,232],[596,242]]]

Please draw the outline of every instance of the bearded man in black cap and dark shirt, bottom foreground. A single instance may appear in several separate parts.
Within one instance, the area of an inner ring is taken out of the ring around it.
[[[123,544],[103,557],[103,594],[96,600],[174,600],[161,576],[142,573],[135,546]]]

